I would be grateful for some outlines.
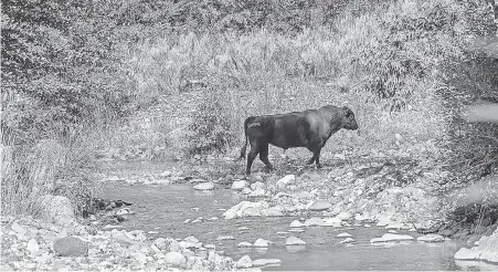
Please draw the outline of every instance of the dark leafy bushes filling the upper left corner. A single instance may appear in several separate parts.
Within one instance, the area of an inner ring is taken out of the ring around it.
[[[84,119],[126,112],[133,83],[113,51],[118,39],[113,34],[114,22],[99,9],[103,6],[86,1],[4,3],[2,109],[10,111],[9,118],[2,119],[6,132],[29,129],[30,135],[43,138],[47,135],[32,130],[54,124],[51,129],[64,133]],[[29,113],[22,112],[25,107]],[[10,138],[19,144],[19,136]]]

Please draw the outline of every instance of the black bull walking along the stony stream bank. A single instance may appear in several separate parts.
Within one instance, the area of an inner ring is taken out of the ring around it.
[[[306,147],[312,151],[308,165],[316,161],[320,168],[320,151],[330,136],[341,128],[356,130],[358,124],[354,113],[348,107],[322,106],[318,109],[307,109],[288,114],[251,116],[244,122],[245,145],[241,158],[245,157],[247,140],[251,151],[247,155],[246,175],[257,154],[259,159],[273,169],[268,160],[268,144],[284,148]]]

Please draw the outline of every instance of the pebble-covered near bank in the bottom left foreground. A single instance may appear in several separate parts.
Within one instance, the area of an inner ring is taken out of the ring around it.
[[[32,219],[2,218],[1,271],[232,270],[235,263],[194,237],[148,239],[140,230],[78,231]]]

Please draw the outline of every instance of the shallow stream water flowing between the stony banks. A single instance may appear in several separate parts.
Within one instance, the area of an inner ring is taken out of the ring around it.
[[[146,232],[157,231],[149,237],[186,238],[194,236],[203,243],[216,245],[216,250],[239,260],[248,254],[252,260],[277,258],[282,265],[263,270],[498,270],[498,266],[481,262],[459,262],[453,255],[462,242],[418,243],[371,245],[370,239],[381,237],[386,231],[375,224],[371,228],[354,227],[333,229],[331,227],[305,228],[304,232],[290,233],[307,242],[306,247],[286,247],[285,237],[277,234],[288,231],[289,223],[297,217],[283,218],[244,218],[225,220],[223,211],[246,198],[230,189],[216,187],[214,191],[202,192],[191,185],[127,185],[106,184],[103,197],[133,202],[136,215],[123,224],[127,230],[140,229]],[[219,220],[200,223],[184,223],[187,219],[202,217]],[[160,229],[157,229],[159,227]],[[241,227],[248,230],[240,231]],[[348,232],[357,241],[353,245],[340,244],[343,238],[336,238],[340,232]],[[400,232],[418,237],[414,232]],[[235,240],[216,241],[220,236],[233,236]],[[237,243],[253,243],[257,238],[273,241],[268,249],[241,249]]]

